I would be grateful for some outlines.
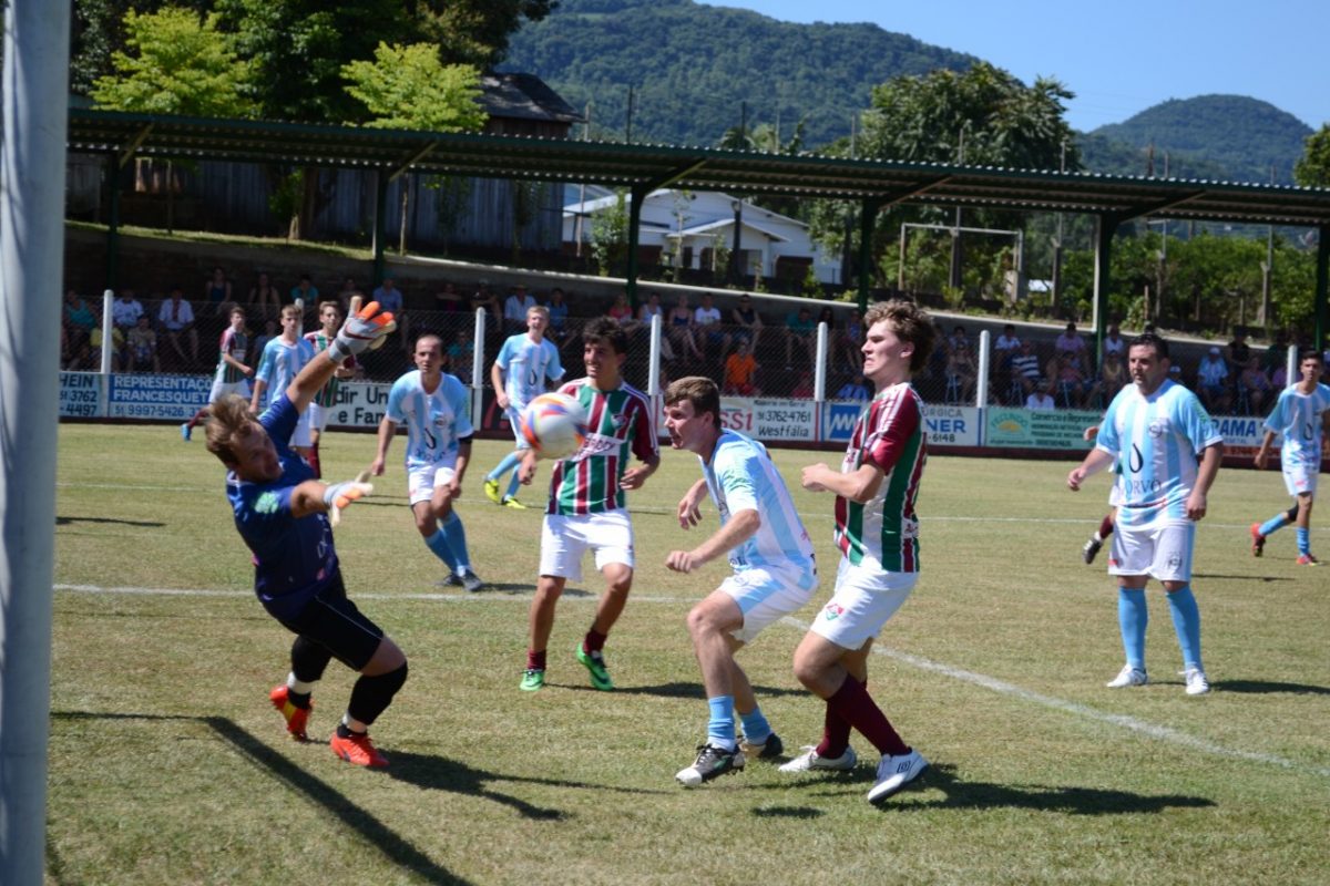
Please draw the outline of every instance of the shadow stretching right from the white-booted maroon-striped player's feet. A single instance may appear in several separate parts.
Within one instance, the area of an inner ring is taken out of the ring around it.
[[[962,781],[955,774],[955,766],[932,764],[918,781],[911,782],[896,797],[882,805],[884,810],[911,812],[920,809],[1037,809],[1040,812],[1060,812],[1071,816],[1127,816],[1158,814],[1165,809],[1200,809],[1213,806],[1206,797],[1184,794],[1148,796],[1129,790],[1109,790],[1103,788],[1076,788],[1069,785],[999,785],[986,781]],[[871,784],[871,768],[859,766],[847,781]],[[919,790],[936,789],[946,794],[942,800],[922,797],[914,801],[911,794]],[[845,792],[837,792],[845,793]]]

